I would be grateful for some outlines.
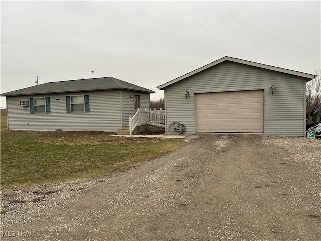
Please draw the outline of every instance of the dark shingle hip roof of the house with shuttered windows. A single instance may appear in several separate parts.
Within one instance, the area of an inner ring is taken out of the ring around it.
[[[155,93],[150,89],[131,84],[113,77],[103,77],[94,79],[77,79],[59,82],[49,82],[35,85],[32,87],[18,89],[11,92],[3,93],[1,96],[19,96],[51,93],[68,93],[80,91],[99,91],[111,89],[125,89],[144,93]]]

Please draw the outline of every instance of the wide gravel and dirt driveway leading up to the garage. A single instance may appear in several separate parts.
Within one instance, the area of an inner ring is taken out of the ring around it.
[[[123,172],[6,188],[2,240],[320,240],[320,141],[194,135]]]

